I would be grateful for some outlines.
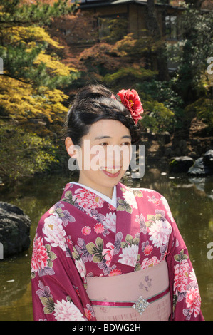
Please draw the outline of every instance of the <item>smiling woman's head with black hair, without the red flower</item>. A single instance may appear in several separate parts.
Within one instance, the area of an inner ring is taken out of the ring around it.
[[[77,159],[79,182],[108,195],[128,169],[131,145],[139,140],[130,110],[105,86],[85,86],[68,111],[66,128],[66,148]]]

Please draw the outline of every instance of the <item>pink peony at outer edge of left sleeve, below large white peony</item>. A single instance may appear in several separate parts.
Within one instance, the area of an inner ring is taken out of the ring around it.
[[[43,245],[43,238],[38,237],[33,242],[33,254],[31,259],[32,272],[37,272],[48,266],[48,253],[46,247]]]

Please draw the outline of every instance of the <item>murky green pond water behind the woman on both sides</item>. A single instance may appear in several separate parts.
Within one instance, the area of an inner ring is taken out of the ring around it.
[[[78,181],[72,177],[71,180]],[[31,218],[31,241],[40,217],[60,200],[63,187],[71,181],[64,176],[34,177],[14,183],[1,192],[0,201],[21,207]],[[207,245],[213,242],[213,177],[190,178],[171,175],[146,166],[140,180],[126,177],[125,185],[147,187],[164,195],[185,239],[199,282],[204,319],[213,320],[213,256]],[[1,191],[4,187],[1,186]],[[31,242],[32,244],[32,242]],[[19,256],[0,260],[0,320],[32,321],[31,247]],[[209,253],[208,253],[209,252]]]

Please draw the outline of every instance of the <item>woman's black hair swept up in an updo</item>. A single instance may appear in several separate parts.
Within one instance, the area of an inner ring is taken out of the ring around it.
[[[90,125],[99,120],[118,120],[130,130],[132,144],[140,140],[140,127],[127,108],[118,100],[111,98],[113,92],[103,85],[91,84],[78,91],[65,121],[65,136],[73,140],[74,145],[82,145]]]

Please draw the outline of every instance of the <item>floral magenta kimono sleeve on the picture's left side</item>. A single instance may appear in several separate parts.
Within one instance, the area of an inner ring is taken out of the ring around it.
[[[56,213],[43,215],[38,222],[31,259],[33,319],[95,320],[82,275],[72,257],[72,243],[63,228]]]

